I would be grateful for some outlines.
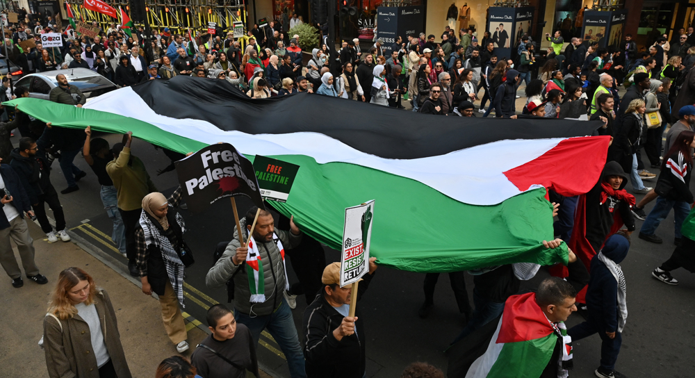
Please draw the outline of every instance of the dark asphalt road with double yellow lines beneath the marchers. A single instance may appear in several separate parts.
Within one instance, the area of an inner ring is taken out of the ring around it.
[[[112,144],[120,141],[120,135],[95,136],[103,136]],[[13,138],[13,142],[16,146],[18,138]],[[170,163],[161,150],[156,151],[149,143],[135,140],[133,154],[142,159],[161,191],[168,194],[176,188],[175,172],[156,176],[158,169]],[[115,252],[108,238],[112,227],[99,199],[96,176],[83,158],[78,156],[75,162],[88,172],[88,176],[79,182],[79,191],[60,195],[68,227],[125,264],[125,258]],[[53,165],[51,181],[57,190],[66,186],[57,162]],[[648,181],[647,185],[653,186],[653,183],[655,181]],[[638,201],[640,198],[637,196]],[[251,206],[245,199],[239,199],[238,205],[242,213]],[[651,206],[653,203],[647,206],[647,212]],[[208,289],[204,279],[212,264],[215,245],[232,237],[234,217],[231,205],[224,201],[218,202],[217,206],[212,206],[202,215],[192,215],[188,211],[181,213],[186,221],[186,241],[193,249],[196,260],[195,265],[186,270],[185,311],[204,323],[208,306],[215,302],[227,302],[226,290]],[[465,227],[454,225],[457,226]],[[640,226],[641,221],[638,220],[637,227]],[[673,214],[657,230],[657,235],[664,238],[663,245],[639,240],[637,232],[633,235],[630,253],[621,264],[627,279],[629,315],[616,369],[628,377],[692,377],[692,361],[688,361],[689,356],[695,354],[692,343],[695,338],[692,327],[695,322],[695,302],[690,300],[695,293],[695,277],[685,270],[677,270],[673,275],[680,285],[667,286],[650,275],[651,270],[669,258],[673,251]],[[465,240],[461,243],[465,243]],[[339,260],[335,250],[325,248],[325,253],[327,262]],[[291,270],[289,266],[288,269]],[[297,281],[293,272],[290,271],[289,275],[291,283]],[[541,269],[537,277],[523,284],[522,290],[536,287],[547,275]],[[443,350],[464,327],[464,320],[457,311],[446,274],[441,275],[437,286],[434,311],[425,320],[418,318],[418,309],[424,300],[423,279],[424,274],[379,268],[370,289],[359,302],[365,322],[363,332],[368,338],[368,377],[398,377],[404,366],[413,361],[427,361],[446,370],[447,359]],[[466,284],[472,302],[472,276],[466,275]],[[298,297],[297,309],[293,311],[297,329],[301,329],[305,307],[305,300]],[[579,314],[573,314],[568,323],[571,327],[581,321]],[[159,331],[163,332],[163,329]],[[571,372],[571,377],[593,377],[600,359],[600,339],[593,336],[575,342],[574,347],[575,370]],[[278,376],[289,377],[284,356],[267,334],[261,337],[259,360]]]

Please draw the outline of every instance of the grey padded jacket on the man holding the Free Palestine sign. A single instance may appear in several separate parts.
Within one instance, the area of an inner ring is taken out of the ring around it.
[[[248,240],[248,231],[246,228],[246,219],[240,220],[241,229],[244,232],[244,241]],[[302,233],[294,235],[289,231],[275,229],[275,233],[280,238],[284,249],[292,249],[302,241]],[[258,240],[256,240],[258,241]],[[208,288],[217,288],[224,285],[231,278],[232,274],[237,269],[240,272],[234,276],[234,308],[241,313],[251,314],[253,306],[253,315],[263,316],[270,315],[282,301],[282,292],[285,290],[285,270],[282,265],[282,256],[277,249],[275,242],[258,243],[259,252],[261,254],[261,262],[263,263],[263,278],[265,286],[265,302],[254,303],[250,302],[251,290],[249,290],[249,279],[246,274],[246,265],[234,265],[231,258],[236,254],[236,249],[240,247],[239,233],[234,229],[234,240],[229,242],[227,249],[224,249],[224,254],[208,270],[205,277],[205,284]],[[288,264],[289,265],[289,264]]]

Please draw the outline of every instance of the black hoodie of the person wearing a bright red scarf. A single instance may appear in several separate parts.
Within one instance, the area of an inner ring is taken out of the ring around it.
[[[596,252],[600,250],[606,236],[610,233],[615,210],[620,211],[620,215],[628,231],[635,231],[635,218],[632,217],[630,204],[611,197],[610,195],[605,202],[601,203],[600,194],[603,192],[601,183],[606,181],[608,176],[621,176],[623,178],[623,183],[621,183],[619,190],[625,188],[629,180],[628,175],[623,171],[619,163],[616,161],[609,161],[603,168],[598,183],[587,192],[587,240],[589,240],[591,247],[594,247],[594,251]]]

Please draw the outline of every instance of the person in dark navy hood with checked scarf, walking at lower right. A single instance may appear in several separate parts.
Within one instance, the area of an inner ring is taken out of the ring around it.
[[[622,343],[623,327],[628,318],[626,282],[620,263],[628,255],[630,241],[622,234],[606,240],[603,249],[591,258],[591,278],[587,288],[586,321],[567,331],[572,340],[598,334],[601,343],[599,378],[625,377],[615,371]]]

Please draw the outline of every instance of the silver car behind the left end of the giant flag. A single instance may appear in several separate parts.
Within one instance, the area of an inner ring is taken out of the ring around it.
[[[56,76],[60,74],[65,75],[68,83],[79,88],[87,97],[87,101],[117,88],[110,80],[91,69],[74,68],[28,74],[17,81],[15,89],[26,88],[29,91],[29,97],[49,99],[51,90],[58,86]]]

